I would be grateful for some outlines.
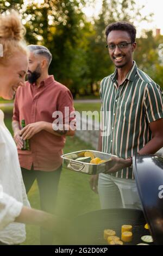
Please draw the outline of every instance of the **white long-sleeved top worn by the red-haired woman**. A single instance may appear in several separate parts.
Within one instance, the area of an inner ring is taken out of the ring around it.
[[[12,223],[20,215],[22,206],[30,206],[23,184],[17,148],[4,124],[0,109],[0,241],[9,245],[26,240],[22,223]]]

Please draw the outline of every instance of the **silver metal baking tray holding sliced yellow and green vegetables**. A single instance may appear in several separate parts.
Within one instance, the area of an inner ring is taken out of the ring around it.
[[[75,159],[68,159],[68,157],[72,156],[73,154],[78,155],[83,151],[92,152],[95,157],[99,157],[102,160],[108,160],[108,161],[101,164],[93,164],[93,163],[76,161]],[[61,157],[63,159],[62,166],[64,168],[68,170],[73,170],[74,172],[78,172],[78,173],[95,175],[99,173],[105,173],[106,170],[112,167],[112,161],[110,161],[111,156],[114,156],[114,155],[86,149],[86,150],[68,153],[68,154],[62,155]]]

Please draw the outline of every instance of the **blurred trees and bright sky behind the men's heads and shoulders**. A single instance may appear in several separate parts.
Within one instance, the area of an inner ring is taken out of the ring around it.
[[[11,8],[22,16],[27,43],[45,45],[52,52],[50,74],[71,89],[74,99],[98,98],[100,81],[114,70],[104,34],[114,21],[134,23],[134,59],[163,87],[163,57],[158,54],[163,43],[161,0],[0,1],[1,13]]]

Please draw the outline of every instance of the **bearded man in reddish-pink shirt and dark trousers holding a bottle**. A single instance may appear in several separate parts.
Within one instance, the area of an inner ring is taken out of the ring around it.
[[[28,193],[37,180],[41,209],[54,213],[61,174],[60,156],[66,136],[74,135],[74,129],[70,127],[74,118],[69,118],[69,113],[74,111],[73,98],[67,87],[48,74],[52,60],[48,48],[29,45],[28,49],[28,81],[17,89],[12,129],[26,191]],[[68,113],[65,107],[69,108]],[[54,129],[54,113],[59,112],[63,116],[62,129]],[[21,130],[22,120],[25,120],[26,127]],[[26,139],[29,139],[30,150],[21,150]],[[53,234],[41,228],[40,242],[41,245],[51,245]]]

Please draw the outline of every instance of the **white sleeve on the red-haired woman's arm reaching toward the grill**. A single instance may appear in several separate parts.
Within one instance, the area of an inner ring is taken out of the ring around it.
[[[20,215],[22,207],[21,202],[3,193],[3,187],[0,184],[0,230],[15,221],[15,218]]]

